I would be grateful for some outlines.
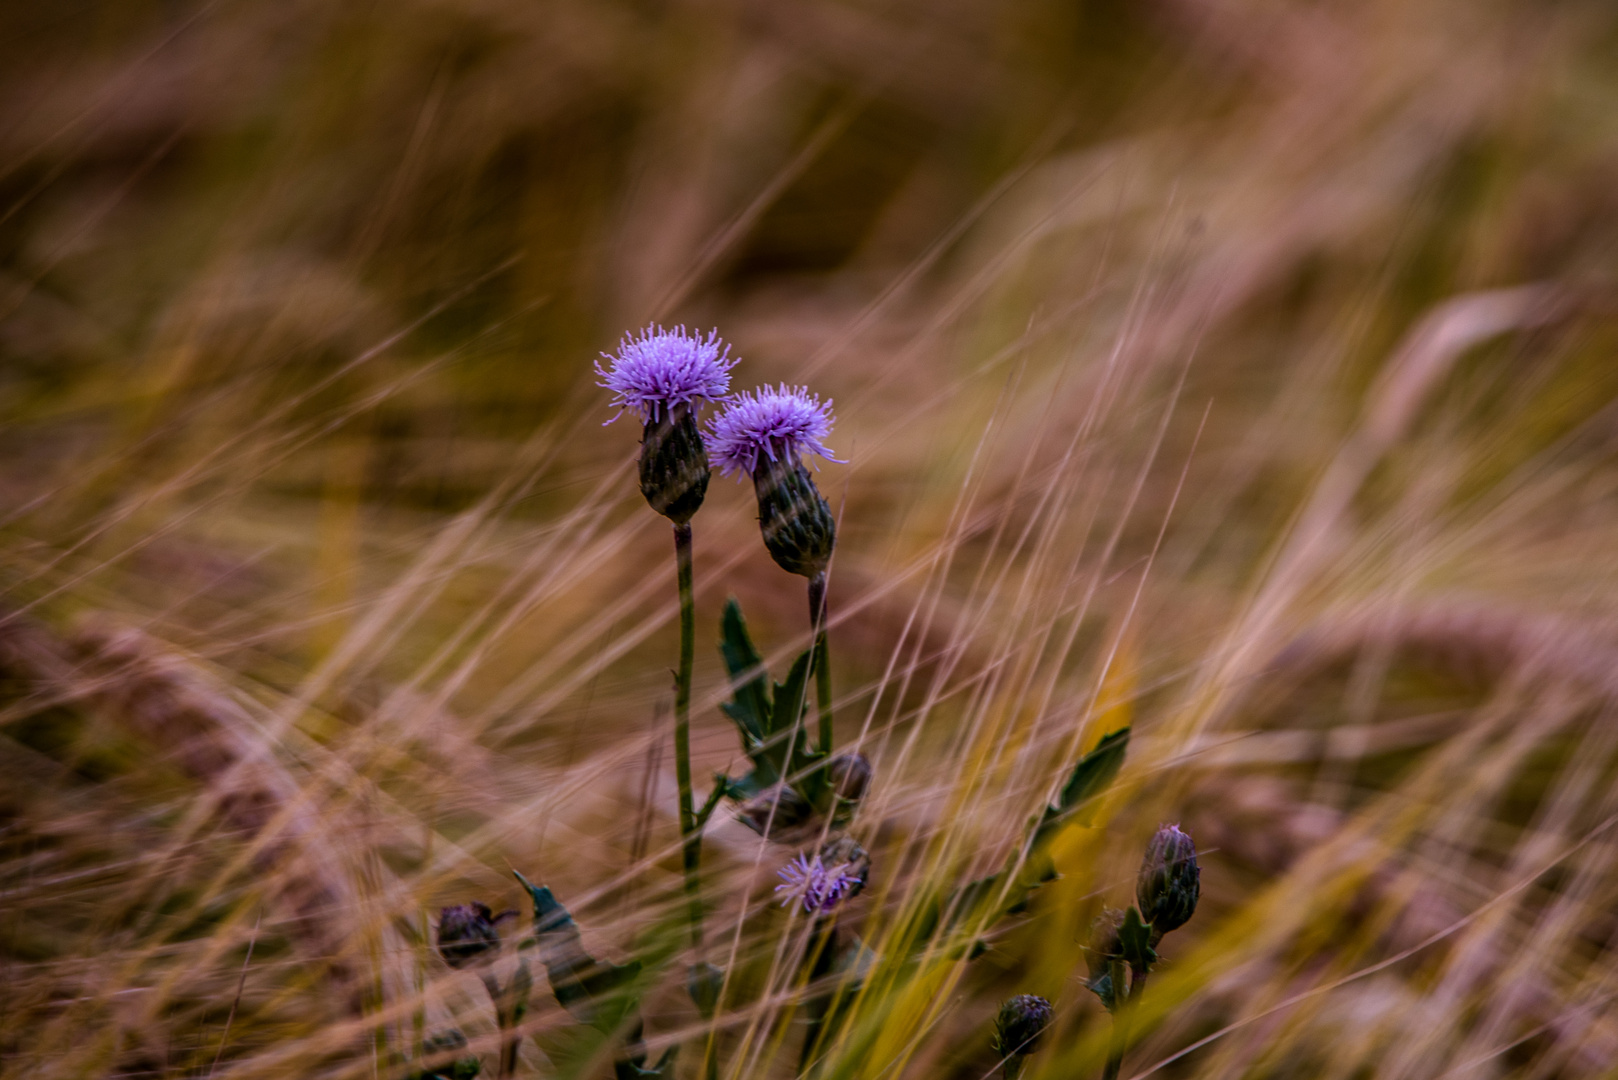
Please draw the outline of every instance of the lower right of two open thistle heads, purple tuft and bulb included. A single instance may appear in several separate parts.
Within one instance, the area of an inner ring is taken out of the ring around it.
[[[726,476],[752,476],[764,546],[783,570],[814,578],[837,544],[837,521],[820,497],[804,453],[835,461],[820,442],[832,431],[832,403],[806,387],[759,387],[739,393],[709,424],[714,465]]]

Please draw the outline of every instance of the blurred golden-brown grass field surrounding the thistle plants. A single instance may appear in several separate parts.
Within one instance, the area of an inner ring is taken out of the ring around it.
[[[1031,1075],[1099,1067],[1082,928],[1160,821],[1204,900],[1125,1075],[1618,1059],[1613,5],[63,0],[0,8],[0,102],[5,1075],[487,1062],[438,907],[657,923],[670,544],[592,371],[652,322],[835,400],[870,941],[1136,730],[837,1075],[982,1077],[1011,993]],[[696,534],[705,790],[725,597],[806,627],[748,487]],[[707,848],[760,993],[786,855]]]

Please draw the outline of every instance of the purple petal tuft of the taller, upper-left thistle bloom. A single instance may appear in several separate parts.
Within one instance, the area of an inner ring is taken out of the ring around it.
[[[665,330],[660,325],[646,327],[639,337],[625,334],[618,353],[602,353],[602,359],[612,366],[595,364],[600,376],[595,385],[616,395],[612,405],[618,411],[612,419],[629,410],[641,423],[657,419],[663,410],[671,413],[680,405],[726,400],[730,369],[736,366],[718,330],[702,337],[686,334],[684,327]]]

